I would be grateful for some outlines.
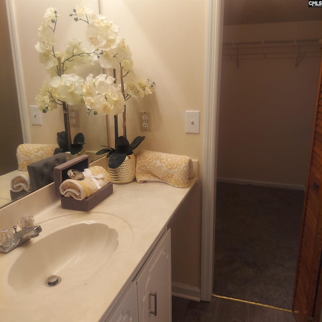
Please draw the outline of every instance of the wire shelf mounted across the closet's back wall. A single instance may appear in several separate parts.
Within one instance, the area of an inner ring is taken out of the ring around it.
[[[239,67],[241,59],[295,58],[295,66],[298,66],[304,57],[318,57],[321,46],[320,39],[225,42],[222,59],[235,59]]]

